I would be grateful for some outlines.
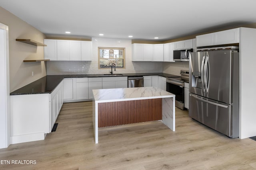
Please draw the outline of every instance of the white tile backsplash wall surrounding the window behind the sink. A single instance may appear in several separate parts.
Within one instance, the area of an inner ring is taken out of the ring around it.
[[[126,49],[125,68],[118,73],[162,72],[162,62],[133,62],[130,39],[92,38],[92,61],[47,61],[47,75],[54,74],[108,74],[110,69],[98,69],[98,47],[121,47]]]

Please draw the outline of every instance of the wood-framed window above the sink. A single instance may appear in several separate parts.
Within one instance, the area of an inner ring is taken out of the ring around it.
[[[125,48],[98,47],[99,68],[111,68],[116,64],[116,68],[125,68]]]

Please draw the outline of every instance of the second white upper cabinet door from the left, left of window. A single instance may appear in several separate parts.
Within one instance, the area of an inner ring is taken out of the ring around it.
[[[57,60],[69,60],[69,40],[57,40]]]

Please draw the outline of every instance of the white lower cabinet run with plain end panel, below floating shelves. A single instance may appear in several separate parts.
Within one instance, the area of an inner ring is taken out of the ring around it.
[[[44,140],[63,100],[63,81],[52,93],[10,96],[10,144]]]

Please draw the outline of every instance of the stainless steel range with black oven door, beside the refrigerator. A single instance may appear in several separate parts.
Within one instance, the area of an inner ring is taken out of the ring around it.
[[[166,91],[175,94],[175,106],[184,110],[184,82],[188,82],[188,70],[180,70],[181,76],[166,78]]]

